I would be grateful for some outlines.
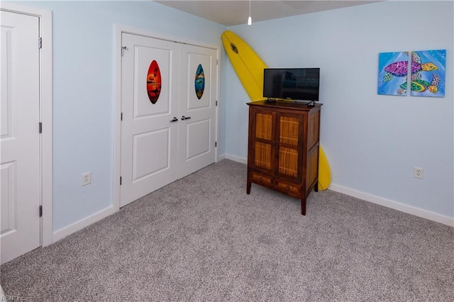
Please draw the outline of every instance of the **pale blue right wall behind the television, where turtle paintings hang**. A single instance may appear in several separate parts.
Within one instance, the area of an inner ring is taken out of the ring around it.
[[[453,12],[452,1],[386,1],[228,29],[269,67],[321,67],[332,188],[452,220]],[[443,99],[377,95],[379,52],[435,49],[447,50]],[[230,65],[226,77],[226,157],[245,160],[248,96]]]

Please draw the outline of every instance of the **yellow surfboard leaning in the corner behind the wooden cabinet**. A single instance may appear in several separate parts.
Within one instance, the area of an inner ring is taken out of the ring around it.
[[[221,35],[222,44],[227,52],[238,78],[240,78],[251,101],[262,101],[263,97],[263,69],[265,62],[255,51],[235,33],[226,30]],[[331,172],[328,160],[321,146],[319,147],[319,190],[325,190],[331,183]]]

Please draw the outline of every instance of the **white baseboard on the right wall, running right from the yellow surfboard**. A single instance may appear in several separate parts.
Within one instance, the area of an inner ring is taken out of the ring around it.
[[[372,194],[364,193],[361,191],[356,191],[354,189],[347,188],[345,186],[339,186],[338,184],[331,184],[328,189],[346,194],[349,196],[353,196],[356,198],[360,198],[364,201],[369,201],[371,203],[379,204],[380,206],[386,206],[387,208],[393,208],[394,210],[401,211],[404,213],[408,213],[414,216],[418,216],[421,218],[426,218],[428,220],[436,221],[437,223],[443,223],[444,225],[449,225],[454,227],[454,218],[449,216],[444,216],[438,213],[433,213],[431,211],[423,210],[422,208],[416,208],[414,206],[409,206],[404,203],[399,203],[397,201],[392,201],[387,198],[383,198],[380,196],[375,196]]]

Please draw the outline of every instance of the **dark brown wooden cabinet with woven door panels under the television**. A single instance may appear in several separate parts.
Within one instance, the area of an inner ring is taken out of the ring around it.
[[[291,101],[249,105],[248,183],[260,184],[301,199],[317,191],[321,104]]]

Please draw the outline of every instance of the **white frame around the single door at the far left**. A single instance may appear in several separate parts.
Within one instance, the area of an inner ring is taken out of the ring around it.
[[[0,9],[12,13],[36,16],[39,19],[40,38],[40,122],[43,124],[40,135],[40,204],[41,217],[40,245],[53,242],[52,230],[52,11],[37,9],[11,2],[1,1]],[[36,41],[38,47],[38,41]],[[38,128],[38,125],[36,125]]]

